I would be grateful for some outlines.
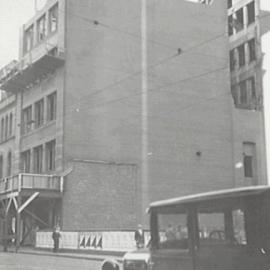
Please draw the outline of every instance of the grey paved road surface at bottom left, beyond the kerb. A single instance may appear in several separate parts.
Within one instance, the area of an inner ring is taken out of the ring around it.
[[[0,252],[0,270],[99,270],[100,261]]]

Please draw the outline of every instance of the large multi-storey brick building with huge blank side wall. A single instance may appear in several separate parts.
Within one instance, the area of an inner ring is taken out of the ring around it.
[[[265,183],[260,90],[233,102],[227,18],[225,1],[48,0],[1,71],[5,230],[134,229],[150,201]]]

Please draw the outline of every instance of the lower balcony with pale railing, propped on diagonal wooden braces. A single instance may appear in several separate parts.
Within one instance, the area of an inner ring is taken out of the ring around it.
[[[33,191],[38,191],[40,197],[61,197],[63,177],[21,173],[0,180],[0,197],[9,197],[14,193],[28,196]]]

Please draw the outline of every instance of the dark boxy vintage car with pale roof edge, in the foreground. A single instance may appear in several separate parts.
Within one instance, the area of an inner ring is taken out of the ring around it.
[[[148,212],[151,245],[126,253],[124,270],[270,269],[267,186],[158,201]]]

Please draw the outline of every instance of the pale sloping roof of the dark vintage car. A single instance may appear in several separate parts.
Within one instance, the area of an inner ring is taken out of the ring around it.
[[[192,203],[202,203],[207,201],[215,201],[230,198],[240,198],[245,196],[258,195],[270,190],[269,186],[249,186],[232,189],[222,189],[205,193],[192,194],[167,200],[156,201],[150,204],[148,211],[158,208],[166,208],[169,206],[180,206]]]

